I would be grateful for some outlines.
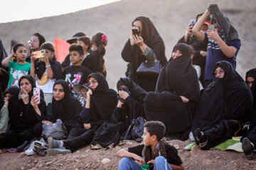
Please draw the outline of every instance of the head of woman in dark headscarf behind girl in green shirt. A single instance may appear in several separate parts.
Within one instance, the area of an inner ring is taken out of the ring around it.
[[[46,39],[40,33],[34,33],[31,36],[31,39],[28,40],[28,44],[31,47],[31,54],[32,52],[40,50],[41,45],[43,42],[46,42]],[[26,62],[31,62],[31,56],[26,57]]]

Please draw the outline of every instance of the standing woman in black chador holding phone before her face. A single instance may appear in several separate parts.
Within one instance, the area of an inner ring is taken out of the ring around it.
[[[137,69],[143,61],[152,61],[154,58],[164,66],[166,56],[164,53],[164,41],[157,32],[149,18],[139,16],[132,22],[132,28],[138,30],[138,34],[130,35],[129,40],[122,50],[122,58],[129,62],[126,76],[146,91],[154,91],[157,76],[141,77],[137,75]]]

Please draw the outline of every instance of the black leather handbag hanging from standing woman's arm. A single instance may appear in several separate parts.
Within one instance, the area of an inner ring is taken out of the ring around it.
[[[154,54],[154,60],[148,61],[145,60],[140,64],[137,69],[137,74],[139,76],[156,76],[158,77],[160,73],[160,62],[156,59]]]

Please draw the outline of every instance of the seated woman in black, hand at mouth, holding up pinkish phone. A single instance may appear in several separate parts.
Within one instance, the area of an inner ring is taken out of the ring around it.
[[[34,98],[35,80],[31,75],[24,75],[18,81],[21,89],[17,96],[9,98],[9,124],[11,128],[0,136],[0,148],[18,147],[26,140],[41,136],[42,123],[46,118],[46,102],[41,96]],[[42,94],[42,92],[41,92]],[[36,101],[40,100],[40,104]]]

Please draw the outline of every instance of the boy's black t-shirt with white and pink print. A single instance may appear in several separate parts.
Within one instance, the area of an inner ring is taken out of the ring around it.
[[[87,67],[82,66],[70,66],[63,70],[63,79],[68,82],[71,89],[77,84],[85,84],[87,77],[92,72]],[[72,90],[72,94],[75,95],[75,91]]]

